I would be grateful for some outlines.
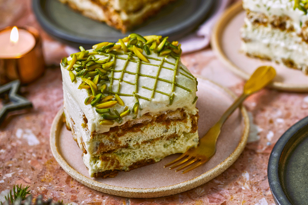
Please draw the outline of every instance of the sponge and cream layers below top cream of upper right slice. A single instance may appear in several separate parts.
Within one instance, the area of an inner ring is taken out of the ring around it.
[[[295,32],[252,24],[241,28],[241,50],[249,56],[272,60],[307,74],[308,44]]]

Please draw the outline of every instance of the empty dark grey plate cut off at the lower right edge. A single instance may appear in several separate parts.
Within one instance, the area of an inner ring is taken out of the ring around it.
[[[268,180],[277,205],[308,202],[308,117],[288,129],[275,144]]]

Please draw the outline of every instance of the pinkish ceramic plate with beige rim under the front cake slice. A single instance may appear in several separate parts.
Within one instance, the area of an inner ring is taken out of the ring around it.
[[[234,94],[207,80],[198,78],[199,136],[213,126],[231,105]],[[225,171],[243,151],[249,131],[245,108],[237,109],[222,127],[217,141],[217,152],[197,169],[186,174],[163,168],[180,154],[170,155],[158,163],[129,172],[120,172],[115,178],[90,178],[81,158],[82,151],[73,140],[71,131],[63,123],[63,109],[56,115],[50,135],[51,151],[67,174],[84,185],[104,193],[137,198],[161,197],[177,194],[208,182]]]

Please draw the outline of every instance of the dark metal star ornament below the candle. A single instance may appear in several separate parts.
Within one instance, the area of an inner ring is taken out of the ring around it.
[[[32,107],[32,103],[29,100],[17,94],[19,88],[19,80],[14,80],[0,86],[0,98],[5,99],[5,95],[8,94],[9,101],[11,102],[5,103],[0,110],[0,124],[9,112]]]

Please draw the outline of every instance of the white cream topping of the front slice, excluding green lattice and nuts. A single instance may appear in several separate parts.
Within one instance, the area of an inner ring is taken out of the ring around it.
[[[91,50],[89,50],[91,52]],[[127,55],[120,55],[121,57],[127,57]],[[160,61],[149,59],[151,64],[159,65],[161,63],[161,60],[166,60],[171,63],[176,63],[176,60],[172,57],[164,58],[164,57],[157,57],[156,53],[153,53],[149,55],[153,58],[158,58]],[[100,58],[100,60],[103,60],[107,58],[103,55],[95,55],[95,58]],[[137,60],[137,57],[134,57],[135,60]],[[67,60],[71,60],[71,57],[67,58]],[[125,64],[125,60],[117,59],[115,63],[115,70],[122,70]],[[174,65],[164,62],[163,66],[168,68],[174,68]],[[153,98],[151,98],[152,90],[148,90],[144,87],[153,88],[153,85],[155,84],[155,79],[149,78],[149,77],[143,77],[139,76],[136,78],[136,74],[123,74],[123,80],[135,83],[136,79],[138,82],[138,89],[136,94],[150,98],[150,100],[145,100],[142,98],[139,98],[140,106],[137,118],[140,118],[145,113],[150,113],[152,115],[155,115],[159,112],[164,112],[167,110],[176,110],[177,108],[184,108],[185,112],[188,114],[195,115],[197,113],[196,102],[193,103],[195,97],[196,97],[196,80],[190,77],[185,71],[181,70],[180,67],[182,67],[186,72],[189,73],[186,66],[184,66],[181,62],[179,62],[179,65],[177,67],[176,72],[176,83],[180,84],[181,86],[191,90],[187,91],[179,86],[174,87],[174,91],[172,92],[172,83],[164,82],[161,80],[157,81],[156,84],[156,90],[164,92],[164,93],[174,93],[174,99],[172,105],[169,105],[170,97],[165,94],[161,94],[158,92],[154,93]],[[136,73],[137,63],[136,62],[129,62],[126,69],[129,72]],[[140,66],[140,73],[156,76],[157,73],[159,78],[163,78],[168,81],[173,80],[174,71],[168,70],[166,68],[161,68],[160,72],[158,72],[159,67],[153,66],[153,65],[146,65],[142,64]],[[71,118],[74,120],[75,123],[83,122],[82,116],[80,116],[80,113],[84,113],[85,117],[87,118],[87,127],[89,133],[92,133],[95,131],[95,133],[103,133],[109,131],[110,127],[119,126],[121,124],[124,124],[127,121],[130,121],[133,119],[134,114],[131,114],[123,118],[122,123],[118,123],[115,121],[113,125],[100,125],[99,122],[103,120],[101,115],[95,111],[97,109],[96,107],[92,107],[91,104],[85,105],[84,101],[89,96],[88,91],[86,89],[78,89],[78,86],[83,81],[81,78],[76,78],[75,82],[71,82],[69,71],[61,65],[61,71],[62,71],[62,78],[63,78],[63,92],[64,92],[64,107],[71,116]],[[75,71],[73,71],[74,74],[76,74]],[[108,72],[108,75],[110,76],[110,72]],[[121,72],[114,72],[114,78],[120,78]],[[188,78],[189,76],[190,78]],[[112,91],[116,91],[118,89],[118,86],[120,85],[120,93],[123,94],[132,94],[135,91],[135,85],[129,84],[127,82],[119,82],[119,80],[113,80],[112,82]],[[100,90],[100,86],[102,83],[107,84],[107,88],[109,89],[110,80],[109,81],[101,81],[98,84],[98,88]],[[107,90],[108,90],[107,89]],[[106,94],[107,95],[107,94]],[[124,107],[128,106],[128,109],[132,110],[132,107],[135,104],[135,98],[133,96],[121,96],[122,100],[124,101],[124,106],[120,106],[119,104],[116,104],[115,106],[111,107],[111,111],[113,109],[116,109],[119,113],[124,111]],[[72,106],[71,102],[76,102],[79,107]],[[81,120],[81,121],[80,121]],[[84,130],[81,127],[81,124],[77,124],[76,127],[80,127],[81,130]],[[90,138],[90,134],[85,135],[83,137]],[[84,141],[88,141],[89,139],[84,139]]]

